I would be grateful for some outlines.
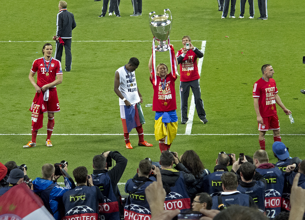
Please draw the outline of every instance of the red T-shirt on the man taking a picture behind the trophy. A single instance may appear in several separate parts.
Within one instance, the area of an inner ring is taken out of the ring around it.
[[[183,53],[183,48],[179,50],[176,57],[179,57]],[[193,50],[188,50],[185,57],[180,63],[180,81],[189,82],[200,79],[197,67],[197,55]]]

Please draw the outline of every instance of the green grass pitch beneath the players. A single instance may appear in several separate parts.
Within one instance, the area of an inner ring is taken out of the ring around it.
[[[213,171],[217,154],[245,153],[253,155],[259,149],[256,114],[253,107],[253,84],[261,77],[260,68],[269,63],[274,67],[274,79],[284,105],[295,119],[278,107],[282,141],[291,156],[304,159],[304,52],[303,10],[301,0],[268,1],[268,20],[258,20],[259,10],[254,1],[254,19],[249,17],[246,4],[244,19],[239,19],[239,1],[235,19],[221,19],[217,1],[143,0],[142,16],[130,17],[132,5],[121,1],[121,18],[98,18],[102,2],[67,1],[74,13],[77,27],[73,30],[72,71],[64,72],[63,83],[57,86],[61,112],[55,113],[52,136],[54,147],[45,144],[46,135],[38,135],[37,146],[23,149],[30,140],[29,108],[35,90],[28,80],[33,61],[42,56],[44,43],[52,41],[56,33],[58,1],[6,1],[0,13],[0,162],[9,160],[28,166],[28,176],[40,177],[44,163],[69,162],[69,173],[78,166],[86,166],[92,173],[92,158],[104,150],[118,150],[128,159],[120,182],[132,178],[138,162],[145,157],[158,161],[160,151],[153,135],[145,140],[153,147],[138,147],[138,137],[131,135],[133,150],[125,148],[122,135],[58,135],[58,134],[122,134],[118,97],[113,91],[114,72],[130,57],[138,57],[136,70],[138,88],[142,93],[146,124],[145,134],[154,132],[154,112],[145,104],[152,103],[148,60],[151,54],[152,33],[148,14],[162,14],[170,9],[173,25],[170,33],[175,51],[182,47],[182,36],[189,35],[194,46],[200,48],[206,40],[200,86],[209,122],[203,125],[195,112],[192,135],[183,135],[185,125],[178,125],[178,135],[171,150],[182,154],[195,150],[206,168]],[[228,37],[225,37],[228,36]],[[9,42],[11,41],[11,42]],[[18,42],[20,41],[20,42]],[[34,42],[38,41],[38,42]],[[106,42],[84,42],[106,41]],[[133,41],[133,42],[127,42]],[[135,42],[136,41],[136,42]],[[55,49],[53,51],[53,55]],[[169,64],[169,53],[157,53],[156,63]],[[62,65],[64,67],[63,56]],[[180,118],[179,78],[176,81],[177,115]],[[189,104],[191,95],[189,98]],[[180,119],[179,119],[180,120]],[[46,134],[47,117],[38,134]],[[136,134],[135,129],[131,134]],[[205,134],[205,135],[193,135]],[[208,135],[235,134],[235,135]],[[248,134],[248,135],[236,135]],[[250,135],[254,134],[254,135]],[[270,161],[275,163],[267,132],[266,146]],[[294,134],[294,135],[291,135]],[[299,135],[295,135],[299,134]],[[59,181],[62,181],[59,179]],[[124,194],[124,185],[120,185]]]

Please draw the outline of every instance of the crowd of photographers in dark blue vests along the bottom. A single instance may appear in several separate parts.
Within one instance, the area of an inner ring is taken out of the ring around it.
[[[149,158],[139,162],[135,176],[125,184],[128,196],[123,199],[117,184],[127,159],[117,151],[94,156],[91,175],[86,167],[77,167],[74,179],[66,161],[44,164],[41,178],[33,181],[25,164],[9,161],[0,163],[0,196],[25,183],[55,219],[63,220],[172,219],[178,214],[176,219],[187,215],[191,219],[303,219],[305,160],[290,157],[282,142],[274,142],[272,150],[276,164],[269,163],[264,150],[253,156],[240,153],[237,160],[235,154],[221,152],[213,173],[193,150],[180,157],[163,151],[159,162]],[[65,187],[57,184],[60,176]]]

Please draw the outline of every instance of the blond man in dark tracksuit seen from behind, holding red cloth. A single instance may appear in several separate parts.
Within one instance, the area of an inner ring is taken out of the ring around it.
[[[76,27],[74,15],[67,11],[67,2],[59,1],[58,5],[59,12],[56,19],[56,51],[55,59],[61,62],[61,56],[63,55],[63,46],[65,46],[66,53],[66,68],[65,71],[71,70],[72,54],[71,54],[71,43],[72,43],[72,30]]]

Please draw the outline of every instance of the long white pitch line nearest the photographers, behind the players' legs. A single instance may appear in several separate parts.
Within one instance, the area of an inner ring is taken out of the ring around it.
[[[32,134],[0,134],[0,136],[5,136],[5,135],[32,135]],[[37,135],[47,135],[47,134],[37,134]],[[115,136],[115,135],[124,135],[124,134],[52,134],[52,135],[59,135],[59,136]],[[138,134],[129,134],[129,135],[138,135]],[[145,135],[155,135],[155,134],[145,134]],[[188,135],[188,136],[204,136],[204,135],[210,135],[210,136],[240,136],[240,135],[258,135],[258,134],[177,134],[177,135]],[[266,134],[266,135],[273,135],[273,134]],[[281,134],[281,135],[290,135],[290,136],[301,136],[305,134]]]

